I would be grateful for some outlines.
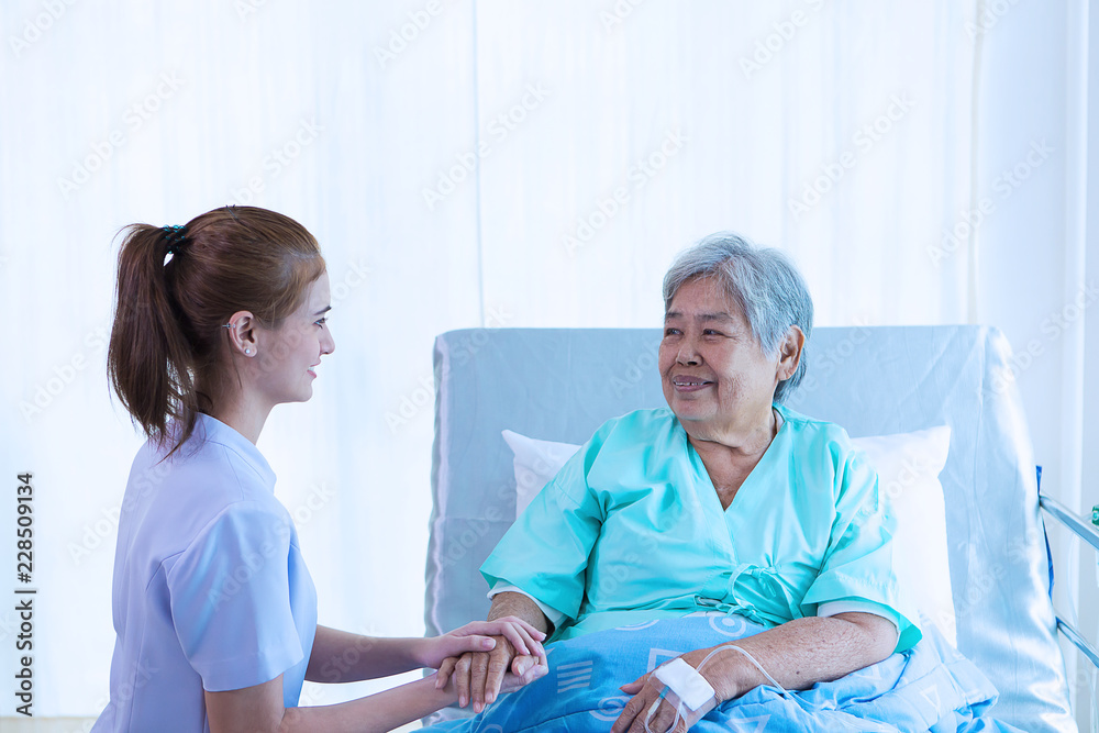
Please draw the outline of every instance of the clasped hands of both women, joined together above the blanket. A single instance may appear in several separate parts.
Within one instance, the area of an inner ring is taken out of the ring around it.
[[[542,642],[546,635],[513,615],[474,621],[437,636],[426,666],[439,669],[435,688],[453,684],[458,706],[480,712],[502,693],[518,690],[550,671]],[[444,641],[445,640],[445,641]],[[432,663],[435,664],[432,664]]]

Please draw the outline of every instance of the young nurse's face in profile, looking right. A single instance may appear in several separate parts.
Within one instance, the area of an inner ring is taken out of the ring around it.
[[[313,396],[314,368],[323,354],[335,349],[325,323],[329,304],[329,275],[322,273],[306,292],[304,302],[281,327],[265,331],[259,351],[264,378],[260,390],[270,404],[304,402]]]

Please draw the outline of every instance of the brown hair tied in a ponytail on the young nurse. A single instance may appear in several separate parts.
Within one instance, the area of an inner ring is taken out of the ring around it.
[[[175,453],[211,409],[196,379],[213,378],[226,333],[242,310],[278,329],[324,273],[313,235],[289,216],[223,207],[177,232],[131,224],[119,252],[107,371],[122,404],[159,444],[182,426]],[[171,251],[171,258],[165,257]]]

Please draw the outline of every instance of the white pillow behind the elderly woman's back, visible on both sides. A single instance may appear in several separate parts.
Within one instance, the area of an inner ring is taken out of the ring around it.
[[[579,449],[571,443],[526,437],[510,430],[503,440],[514,454],[515,517]],[[923,624],[934,623],[957,646],[957,620],[946,544],[946,504],[939,474],[946,466],[951,429],[939,425],[913,433],[855,437],[877,468],[879,485],[897,515],[895,569],[917,604]]]

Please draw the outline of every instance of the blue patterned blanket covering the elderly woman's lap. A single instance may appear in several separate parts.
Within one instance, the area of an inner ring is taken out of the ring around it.
[[[586,634],[547,647],[550,674],[481,714],[425,731],[606,732],[629,697],[619,686],[685,652],[763,631],[739,617],[688,617]],[[1018,731],[981,718],[996,689],[933,629],[903,654],[810,690],[761,686],[720,706],[692,733]]]

